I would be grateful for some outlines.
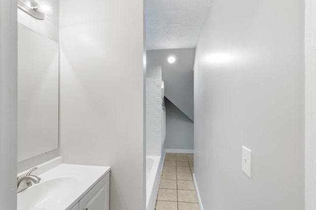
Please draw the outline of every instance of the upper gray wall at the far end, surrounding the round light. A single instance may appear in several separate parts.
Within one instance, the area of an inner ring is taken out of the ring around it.
[[[170,54],[177,57],[174,64],[167,62]],[[192,120],[194,54],[195,48],[147,51],[147,67],[162,68],[165,96]]]

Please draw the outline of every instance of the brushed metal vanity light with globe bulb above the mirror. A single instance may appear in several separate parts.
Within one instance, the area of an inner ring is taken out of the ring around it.
[[[18,0],[18,8],[39,20],[44,20],[44,14],[53,13],[53,7],[45,0]]]

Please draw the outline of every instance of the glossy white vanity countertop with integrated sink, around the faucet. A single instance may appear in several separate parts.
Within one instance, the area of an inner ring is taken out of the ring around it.
[[[52,168],[40,165],[38,173],[32,173],[41,178],[40,183],[17,194],[17,210],[69,209],[110,171],[110,167],[62,164],[60,157],[57,161],[50,163]]]

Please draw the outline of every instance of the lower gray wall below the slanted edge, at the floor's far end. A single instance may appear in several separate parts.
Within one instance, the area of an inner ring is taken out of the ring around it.
[[[165,98],[166,149],[193,149],[193,121]]]

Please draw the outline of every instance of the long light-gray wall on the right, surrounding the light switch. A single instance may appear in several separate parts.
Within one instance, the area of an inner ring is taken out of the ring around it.
[[[304,1],[213,0],[194,69],[204,210],[303,210]]]

